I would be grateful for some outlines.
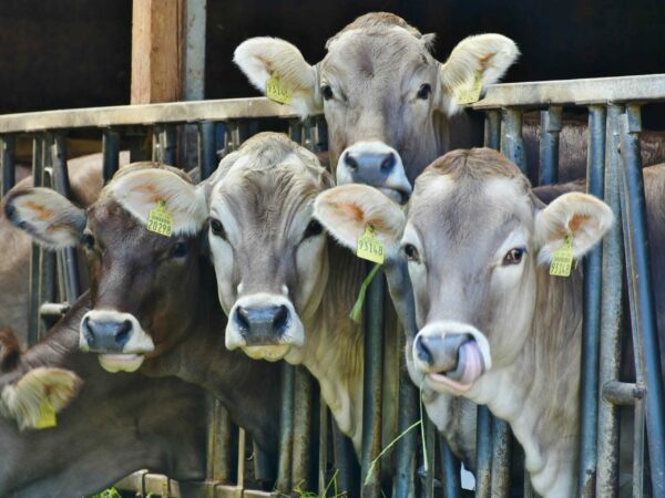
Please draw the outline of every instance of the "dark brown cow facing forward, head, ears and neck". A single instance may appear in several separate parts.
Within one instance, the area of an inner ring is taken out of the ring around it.
[[[278,365],[224,347],[226,319],[202,240],[205,200],[163,188],[174,179],[190,181],[178,169],[137,163],[122,168],[86,210],[53,190],[29,188],[9,195],[4,212],[47,248],[85,248],[91,309],[81,317],[79,342],[65,351],[95,353],[109,372],[140,370],[204,387],[276,461]],[[167,236],[147,229],[158,206],[171,219]],[[45,366],[66,367],[49,360]]]

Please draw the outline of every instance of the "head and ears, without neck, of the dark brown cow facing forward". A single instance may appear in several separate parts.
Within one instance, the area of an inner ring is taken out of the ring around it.
[[[135,371],[182,338],[196,309],[200,236],[205,200],[175,169],[123,168],[86,211],[53,190],[31,188],[8,197],[6,214],[51,249],[82,245],[93,309],[81,322],[80,349],[99,354],[110,372]],[[188,188],[186,188],[188,186]],[[146,229],[163,201],[170,237]]]

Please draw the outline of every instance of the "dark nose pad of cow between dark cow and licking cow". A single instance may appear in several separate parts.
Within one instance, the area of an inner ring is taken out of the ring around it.
[[[234,320],[246,345],[280,344],[287,330],[289,311],[284,304],[269,307],[237,307]]]

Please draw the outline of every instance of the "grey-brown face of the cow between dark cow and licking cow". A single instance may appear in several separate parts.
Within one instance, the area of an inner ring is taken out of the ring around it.
[[[223,159],[212,180],[208,240],[226,345],[267,360],[293,350],[290,361],[327,280],[326,237],[311,205],[330,178],[284,135],[259,134]]]

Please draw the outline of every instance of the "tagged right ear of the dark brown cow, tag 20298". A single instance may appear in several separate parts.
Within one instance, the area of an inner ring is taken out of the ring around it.
[[[144,225],[151,211],[164,209],[175,236],[198,234],[207,219],[205,189],[167,169],[127,173],[112,180],[105,191]]]

